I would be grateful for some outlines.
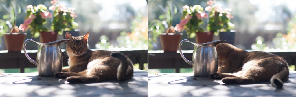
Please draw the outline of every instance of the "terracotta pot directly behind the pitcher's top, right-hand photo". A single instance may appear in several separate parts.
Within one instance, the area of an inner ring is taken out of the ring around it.
[[[203,44],[203,43],[207,43],[207,42],[211,42],[213,41],[213,35],[214,33],[210,33],[210,32],[195,32],[196,37],[195,37],[195,41],[198,44]]]

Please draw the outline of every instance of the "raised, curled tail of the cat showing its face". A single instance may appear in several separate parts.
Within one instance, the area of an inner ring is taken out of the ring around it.
[[[132,64],[131,61],[128,61],[126,56],[124,56],[123,53],[120,53],[119,51],[110,53],[110,56],[120,60],[120,65],[118,66],[117,71],[117,79],[119,81],[131,79],[133,77],[133,67],[130,65]]]

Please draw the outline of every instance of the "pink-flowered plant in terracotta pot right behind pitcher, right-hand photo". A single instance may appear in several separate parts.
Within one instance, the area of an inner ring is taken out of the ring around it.
[[[202,29],[203,19],[206,19],[208,15],[204,12],[202,6],[183,6],[183,14],[180,24],[175,27],[176,31],[186,30],[189,38],[196,36],[197,43],[206,43],[213,40],[213,32],[205,32]]]

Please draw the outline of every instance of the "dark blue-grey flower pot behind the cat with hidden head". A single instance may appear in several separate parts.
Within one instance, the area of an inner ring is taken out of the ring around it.
[[[220,38],[220,40],[225,40],[224,43],[234,45],[235,33],[236,33],[236,31],[234,31],[234,30],[231,30],[228,32],[219,32],[219,38]]]

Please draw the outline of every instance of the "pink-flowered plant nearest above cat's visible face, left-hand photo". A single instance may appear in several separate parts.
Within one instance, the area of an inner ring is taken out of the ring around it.
[[[78,24],[74,21],[74,18],[77,17],[74,10],[75,8],[66,8],[64,5],[58,5],[57,0],[50,2],[52,6],[49,7],[49,10],[53,11],[53,21],[52,29],[59,34],[63,34],[64,38],[66,37],[66,32],[70,33],[72,36],[79,36],[79,30],[74,28]]]

